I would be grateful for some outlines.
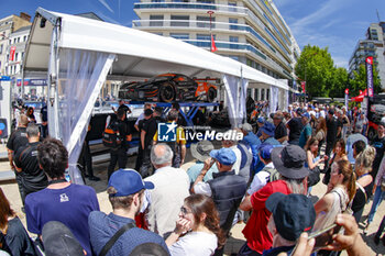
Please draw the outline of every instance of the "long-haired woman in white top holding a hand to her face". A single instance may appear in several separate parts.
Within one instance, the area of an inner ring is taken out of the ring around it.
[[[211,198],[197,193],[185,199],[179,220],[166,244],[172,256],[210,256],[217,247],[223,246],[224,241],[216,204]]]

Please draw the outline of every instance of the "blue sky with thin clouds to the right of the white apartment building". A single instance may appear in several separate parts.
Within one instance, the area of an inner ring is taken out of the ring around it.
[[[385,21],[385,0],[274,0],[298,45],[328,47],[334,65],[346,67],[376,10]]]

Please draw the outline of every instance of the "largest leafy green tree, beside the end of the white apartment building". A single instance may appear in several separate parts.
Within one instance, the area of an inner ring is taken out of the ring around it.
[[[306,92],[310,98],[329,94],[334,64],[328,47],[306,45],[295,66],[297,82],[306,81]]]

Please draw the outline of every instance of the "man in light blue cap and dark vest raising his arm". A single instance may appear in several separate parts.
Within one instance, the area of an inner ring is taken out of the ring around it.
[[[194,182],[191,192],[211,197],[216,203],[220,218],[220,226],[228,233],[232,226],[234,215],[246,191],[245,179],[235,175],[232,166],[237,160],[235,153],[230,148],[211,151],[210,158],[205,160],[205,166]],[[218,174],[212,174],[213,179],[202,182],[206,172],[213,164],[217,164]],[[222,249],[217,249],[215,255],[222,255]]]

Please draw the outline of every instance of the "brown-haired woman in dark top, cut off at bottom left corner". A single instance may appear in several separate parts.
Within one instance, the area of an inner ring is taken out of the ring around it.
[[[0,188],[0,249],[12,256],[36,255],[30,236]]]

